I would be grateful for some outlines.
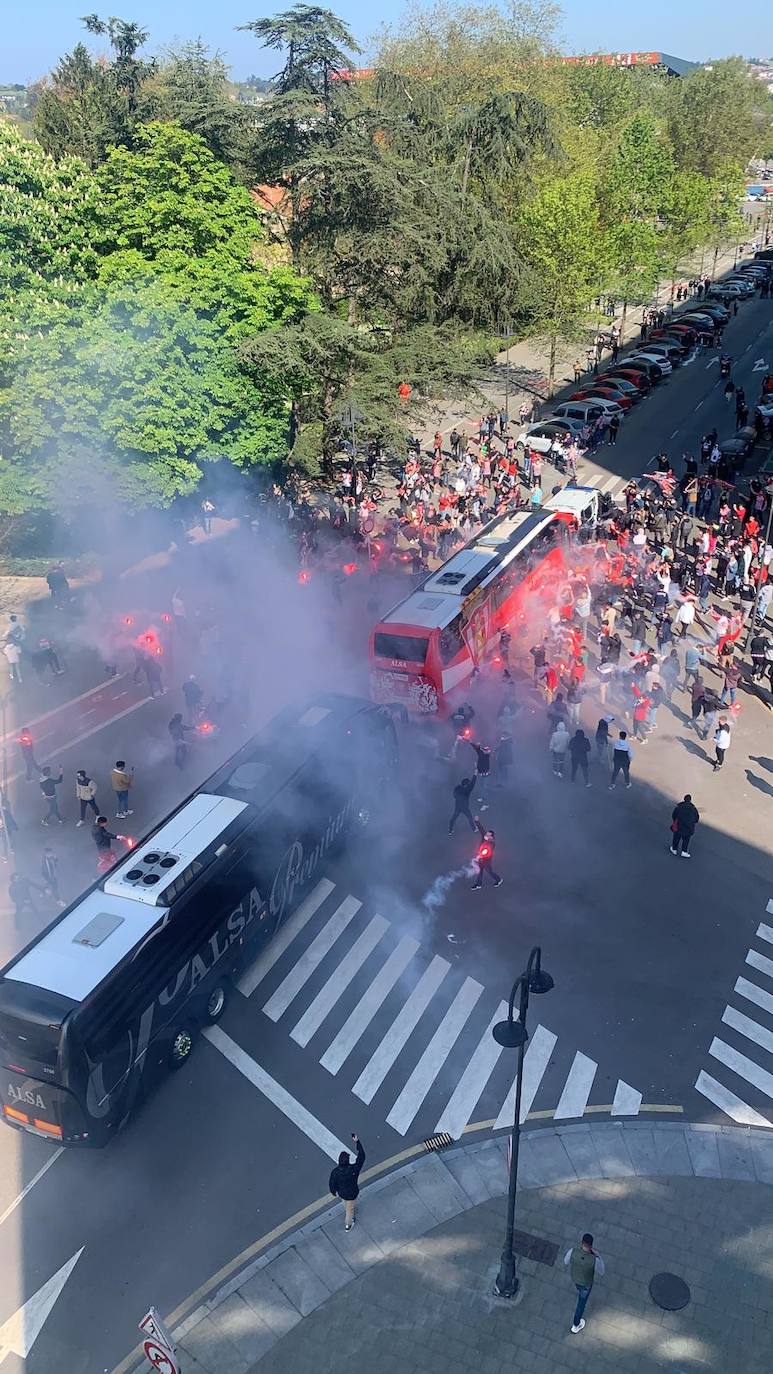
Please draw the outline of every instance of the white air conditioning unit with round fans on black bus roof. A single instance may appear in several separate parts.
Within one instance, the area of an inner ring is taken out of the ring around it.
[[[143,841],[104,879],[104,890],[144,905],[168,907],[225,846],[225,835],[246,802],[199,793]]]

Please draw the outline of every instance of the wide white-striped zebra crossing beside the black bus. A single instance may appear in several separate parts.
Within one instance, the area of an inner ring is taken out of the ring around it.
[[[238,989],[309,1051],[331,1077],[371,1105],[398,1136],[448,1132],[459,1139],[482,1117],[512,1125],[518,1077],[512,1057],[492,1036],[507,1003],[474,977],[431,954],[379,912],[371,914],[328,878],[317,882],[276,937],[242,973]],[[258,1018],[259,1021],[259,1018]],[[255,1024],[259,1037],[259,1024]],[[244,1069],[247,1052],[228,1036],[207,1035],[244,1077],[281,1105],[265,1069]],[[568,1121],[590,1103],[599,1065],[564,1050],[545,1025],[533,1025],[523,1062],[520,1118],[535,1103]],[[247,1061],[250,1062],[250,1061]],[[614,1101],[595,1110],[636,1116],[641,1094],[618,1081]],[[481,1116],[482,1114],[482,1116]]]

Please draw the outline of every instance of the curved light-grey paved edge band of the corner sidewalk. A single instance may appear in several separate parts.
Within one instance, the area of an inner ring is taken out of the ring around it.
[[[303,1316],[367,1268],[507,1193],[507,1134],[422,1156],[367,1184],[346,1234],[325,1208],[251,1260],[176,1329],[189,1374],[249,1374]],[[621,1178],[733,1179],[773,1187],[773,1131],[681,1123],[582,1123],[529,1131],[519,1191]],[[125,1366],[124,1366],[125,1367]]]

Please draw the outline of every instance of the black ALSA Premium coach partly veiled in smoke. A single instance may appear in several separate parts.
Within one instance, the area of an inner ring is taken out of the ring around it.
[[[389,709],[320,695],[246,743],[0,971],[3,1117],[102,1146],[397,780]]]

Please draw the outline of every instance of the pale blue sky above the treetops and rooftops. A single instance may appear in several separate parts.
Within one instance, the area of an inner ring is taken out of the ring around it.
[[[151,49],[180,38],[203,37],[220,49],[235,80],[250,73],[272,76],[277,60],[264,52],[249,33],[236,25],[290,8],[292,0],[110,0],[102,12],[118,10],[121,18],[150,29]],[[357,0],[327,0],[349,23],[367,49],[380,22],[398,23],[405,0],[382,0],[378,10]],[[80,15],[84,0],[27,0],[26,5],[4,0],[0,84],[27,84],[44,76],[56,59],[84,38]],[[732,11],[704,0],[645,0],[621,5],[619,0],[564,0],[562,47],[566,52],[662,51],[688,60],[704,62],[740,52],[768,56],[773,48],[769,0],[735,0]],[[85,38],[89,38],[85,34]],[[99,40],[89,38],[99,49]],[[766,51],[768,49],[768,51]]]

